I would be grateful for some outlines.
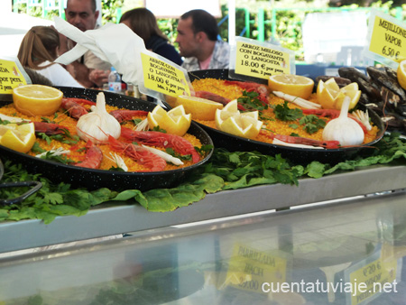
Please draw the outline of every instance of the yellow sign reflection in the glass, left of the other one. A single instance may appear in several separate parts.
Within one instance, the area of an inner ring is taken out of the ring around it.
[[[285,282],[287,261],[279,253],[265,253],[235,244],[226,272],[227,285],[263,293],[263,282]]]

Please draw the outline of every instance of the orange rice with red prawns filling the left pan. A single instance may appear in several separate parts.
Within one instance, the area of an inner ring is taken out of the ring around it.
[[[179,166],[188,166],[200,161],[201,156],[195,147],[200,148],[201,143],[193,135],[180,137],[175,134],[166,134],[165,131],[136,131],[134,122],[142,122],[146,119],[147,111],[118,109],[114,106],[106,106],[110,113],[121,122],[121,136],[118,139],[107,134],[108,141],[97,145],[99,141],[91,138],[87,143],[78,137],[78,119],[83,118],[90,112],[90,107],[95,106],[93,101],[80,98],[64,97],[61,110],[52,116],[24,116],[9,104],[1,108],[2,114],[16,116],[23,121],[32,121],[37,135],[36,144],[30,152],[32,156],[42,153],[50,160],[59,160],[74,166],[90,169],[110,170],[120,168],[104,155],[117,152],[126,164],[129,171],[169,171]],[[134,144],[137,143],[137,144]],[[143,147],[153,146],[165,151],[173,149],[177,157],[182,159],[182,165],[174,165],[166,162],[156,153]],[[55,158],[53,152],[59,148],[65,153],[60,158]],[[48,152],[45,153],[44,152]],[[122,170],[122,169],[121,169]]]

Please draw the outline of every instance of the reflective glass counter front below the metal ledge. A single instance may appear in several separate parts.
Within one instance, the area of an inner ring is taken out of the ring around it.
[[[405,203],[398,189],[4,253],[0,302],[404,304]]]

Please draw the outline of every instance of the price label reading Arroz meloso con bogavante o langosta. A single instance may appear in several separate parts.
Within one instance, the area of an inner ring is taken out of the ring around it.
[[[271,43],[235,40],[235,73],[258,79],[275,74],[291,74],[294,53]]]

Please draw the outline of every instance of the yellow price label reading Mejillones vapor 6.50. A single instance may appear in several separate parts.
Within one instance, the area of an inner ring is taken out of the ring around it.
[[[369,51],[396,62],[406,59],[406,27],[391,16],[379,13],[370,20],[373,22]]]

